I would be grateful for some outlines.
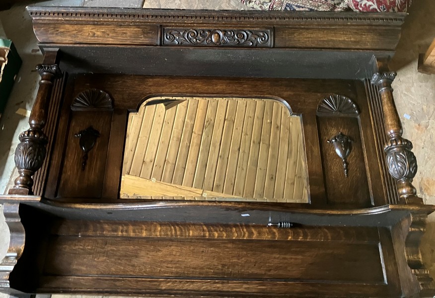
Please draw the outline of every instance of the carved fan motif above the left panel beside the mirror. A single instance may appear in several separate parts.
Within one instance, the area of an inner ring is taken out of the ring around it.
[[[99,89],[84,90],[74,98],[72,110],[112,109],[112,99],[109,94]]]

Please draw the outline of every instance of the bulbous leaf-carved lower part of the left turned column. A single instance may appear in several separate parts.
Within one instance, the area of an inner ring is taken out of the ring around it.
[[[38,128],[31,128],[19,136],[20,143],[15,149],[15,165],[19,176],[9,194],[31,195],[32,176],[42,166],[47,153],[47,136]]]

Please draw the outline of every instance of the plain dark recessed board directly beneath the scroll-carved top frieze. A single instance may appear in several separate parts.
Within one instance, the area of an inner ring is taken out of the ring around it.
[[[373,72],[373,55],[389,51],[316,51],[297,49],[185,48],[112,45],[41,45],[64,53],[61,67],[71,73],[198,75],[234,77],[293,77],[364,79]],[[183,50],[184,49],[184,50]],[[116,57],[116,59],[113,59]],[[147,57],[139,59],[137,57]],[[194,59],[192,58],[194,57]],[[211,60],[210,57],[216,57]],[[133,66],[130,62],[135,60]],[[298,65],[299,67],[289,67]],[[206,66],[206,67],[205,67]]]

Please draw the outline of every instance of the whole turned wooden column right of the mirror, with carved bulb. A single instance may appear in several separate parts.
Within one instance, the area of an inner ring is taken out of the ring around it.
[[[417,173],[417,159],[411,151],[413,148],[411,141],[402,138],[402,124],[394,104],[393,88],[391,88],[395,77],[395,72],[375,73],[371,83],[378,87],[382,101],[384,125],[388,137],[384,146],[388,171],[396,180],[400,200],[407,203],[417,193],[412,185],[412,179]]]

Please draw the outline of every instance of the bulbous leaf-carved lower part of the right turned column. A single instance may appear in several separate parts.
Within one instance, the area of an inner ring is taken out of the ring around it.
[[[417,193],[412,179],[417,173],[417,159],[411,151],[411,141],[400,136],[391,138],[384,147],[388,171],[396,179],[401,200],[414,197]]]

